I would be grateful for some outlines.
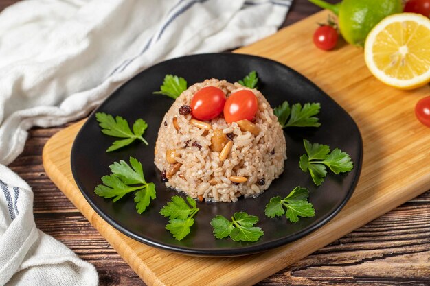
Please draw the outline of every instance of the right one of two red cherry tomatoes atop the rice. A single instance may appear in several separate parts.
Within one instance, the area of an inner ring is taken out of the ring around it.
[[[243,89],[236,91],[227,98],[224,106],[224,118],[228,123],[233,123],[239,120],[252,120],[258,110],[257,97]]]

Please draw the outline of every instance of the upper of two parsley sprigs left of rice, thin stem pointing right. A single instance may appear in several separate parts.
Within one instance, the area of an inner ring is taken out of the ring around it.
[[[99,126],[102,128],[102,132],[106,135],[113,137],[126,138],[122,140],[114,141],[106,152],[111,152],[117,149],[120,149],[126,145],[129,145],[136,139],[139,139],[145,145],[148,145],[148,142],[142,137],[146,128],[148,128],[148,124],[143,119],[137,119],[133,124],[133,132],[128,126],[128,122],[126,119],[117,116],[115,119],[112,115],[108,115],[103,112],[95,113],[95,119],[97,119]]]

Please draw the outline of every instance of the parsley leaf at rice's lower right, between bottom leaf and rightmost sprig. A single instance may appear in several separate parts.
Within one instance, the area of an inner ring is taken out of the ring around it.
[[[308,194],[308,189],[295,187],[283,200],[279,195],[271,198],[264,213],[267,217],[280,217],[285,214],[290,222],[298,222],[299,217],[313,217],[315,210],[308,202]]]

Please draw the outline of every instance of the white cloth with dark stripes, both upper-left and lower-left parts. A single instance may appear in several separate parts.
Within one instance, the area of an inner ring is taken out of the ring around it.
[[[0,164],[8,165],[23,151],[32,126],[84,117],[156,62],[224,51],[273,34],[291,1],[27,0],[12,5],[0,14]],[[11,285],[93,285],[79,281],[96,279],[93,267],[36,230],[30,187],[1,165],[0,180],[8,190],[21,190],[17,204],[11,198],[12,211],[15,206],[19,211],[13,220],[0,191],[0,285],[11,278]],[[36,276],[51,282],[38,283]]]

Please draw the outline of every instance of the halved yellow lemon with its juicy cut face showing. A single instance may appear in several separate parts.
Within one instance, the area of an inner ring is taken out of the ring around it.
[[[389,86],[411,89],[430,82],[430,19],[420,14],[387,16],[367,36],[365,62]]]

